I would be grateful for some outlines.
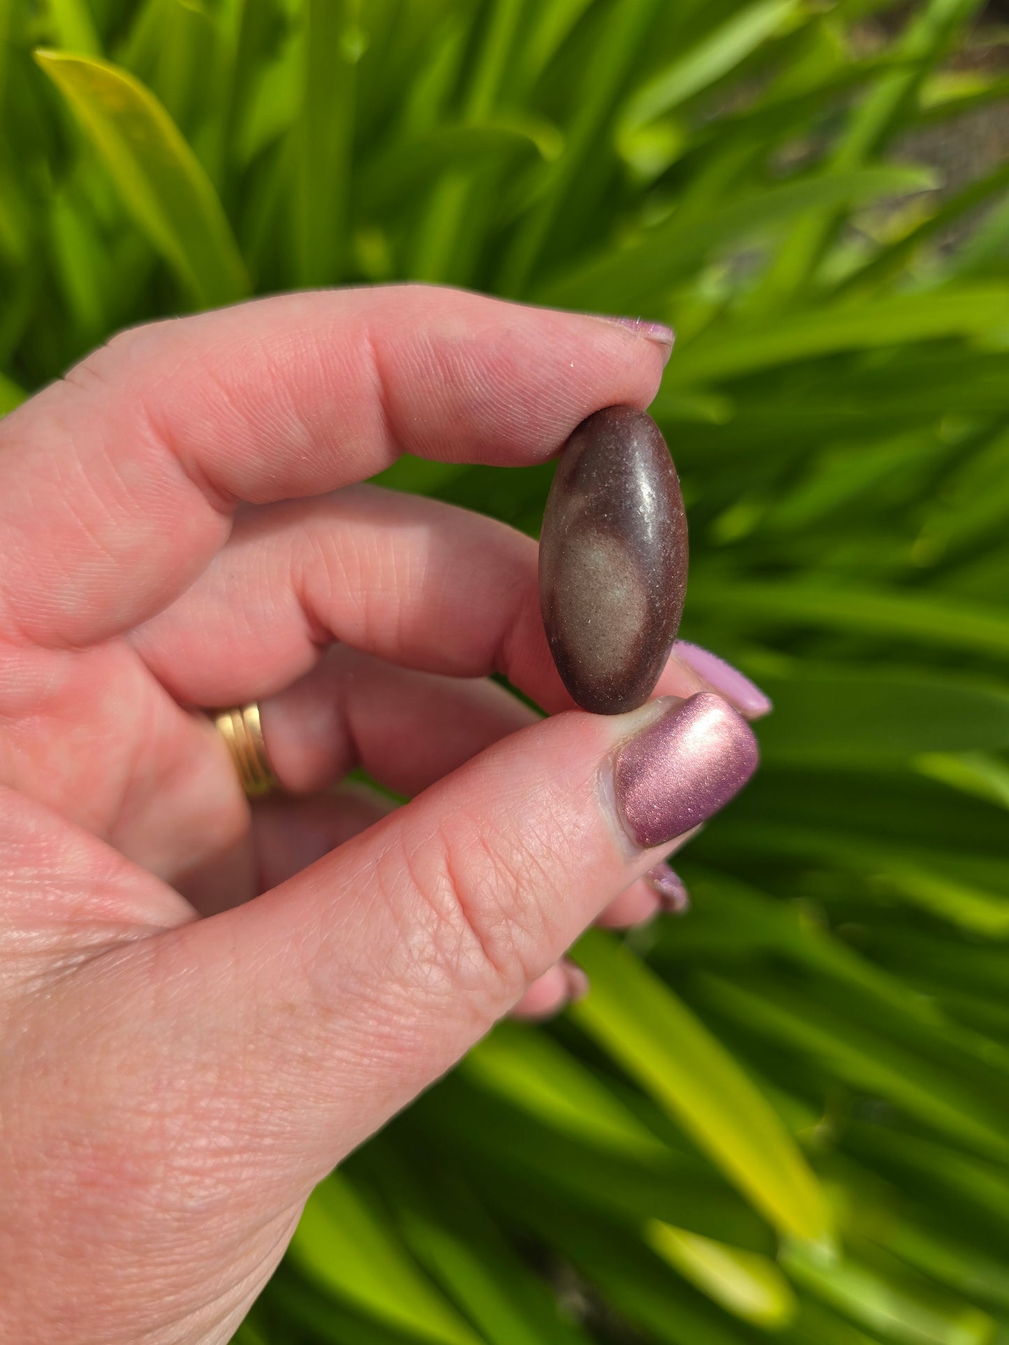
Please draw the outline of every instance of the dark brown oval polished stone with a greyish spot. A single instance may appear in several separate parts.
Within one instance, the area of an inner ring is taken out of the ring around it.
[[[686,514],[662,433],[607,406],[561,452],[539,537],[539,605],[564,685],[584,710],[648,699],[686,597]]]

